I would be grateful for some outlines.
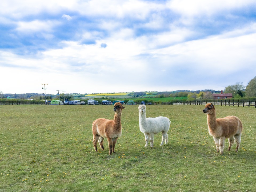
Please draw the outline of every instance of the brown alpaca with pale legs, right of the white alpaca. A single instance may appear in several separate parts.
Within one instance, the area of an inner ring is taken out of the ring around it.
[[[212,103],[205,105],[203,113],[207,114],[208,131],[209,134],[213,136],[217,153],[220,150],[220,154],[223,154],[226,138],[229,140],[228,150],[230,151],[231,146],[236,141],[237,148],[235,150],[238,151],[243,130],[243,125],[240,119],[235,116],[227,116],[224,118],[216,119],[216,111]]]

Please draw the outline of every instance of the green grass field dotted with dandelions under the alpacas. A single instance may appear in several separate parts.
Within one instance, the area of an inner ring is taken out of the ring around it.
[[[91,124],[109,105],[0,106],[0,191],[256,191],[255,108],[216,106],[244,125],[241,147],[215,153],[204,106],[149,105],[171,120],[169,143],[145,148],[138,105],[125,105],[115,154],[94,151]]]

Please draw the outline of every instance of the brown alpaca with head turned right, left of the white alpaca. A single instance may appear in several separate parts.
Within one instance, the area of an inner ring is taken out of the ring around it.
[[[93,146],[96,152],[98,152],[97,141],[101,149],[104,150],[104,138],[107,138],[107,142],[109,143],[109,154],[111,155],[111,153],[115,152],[115,143],[122,134],[121,115],[123,109],[125,107],[121,103],[115,103],[113,109],[115,112],[114,120],[100,118],[93,122]]]

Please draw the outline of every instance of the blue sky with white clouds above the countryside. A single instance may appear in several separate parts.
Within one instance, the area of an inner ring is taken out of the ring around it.
[[[2,93],[224,90],[256,76],[254,0],[3,0]]]

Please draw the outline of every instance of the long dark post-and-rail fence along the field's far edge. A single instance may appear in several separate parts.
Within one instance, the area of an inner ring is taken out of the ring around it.
[[[153,102],[145,103],[145,105],[205,105],[206,103],[213,103],[217,106],[243,106],[255,107],[256,101],[240,101],[240,100],[208,100],[208,101],[178,101],[178,102]],[[125,103],[126,105],[141,105],[141,103]],[[44,101],[0,101],[0,105],[63,105],[63,102],[44,102]],[[69,104],[70,105],[70,104]],[[73,104],[72,104],[73,105]],[[74,104],[77,105],[77,104]],[[80,105],[80,104],[78,104]],[[87,103],[81,105],[105,105],[104,103]],[[109,104],[112,105],[112,104]]]

